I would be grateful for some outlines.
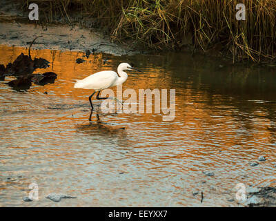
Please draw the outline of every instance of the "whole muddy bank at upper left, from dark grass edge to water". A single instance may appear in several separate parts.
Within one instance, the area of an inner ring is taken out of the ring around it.
[[[61,17],[45,26],[40,20],[40,24],[30,21],[27,12],[28,10],[20,7],[18,1],[0,2],[0,44],[28,47],[34,37],[42,36],[32,49],[91,50],[112,55],[137,54],[131,46],[112,43],[105,30],[85,26],[81,19],[68,23],[65,17]]]

